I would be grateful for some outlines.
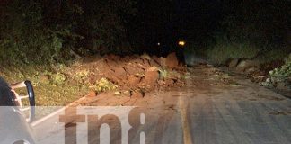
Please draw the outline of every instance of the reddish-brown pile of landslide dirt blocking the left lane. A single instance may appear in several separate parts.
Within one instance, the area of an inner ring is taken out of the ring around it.
[[[166,58],[142,56],[107,55],[86,58],[76,65],[70,76],[86,71],[89,85],[95,85],[102,78],[117,85],[117,94],[145,95],[153,90],[184,85],[186,67],[178,61],[175,53]],[[98,93],[98,92],[97,92]],[[91,95],[92,92],[90,92]]]

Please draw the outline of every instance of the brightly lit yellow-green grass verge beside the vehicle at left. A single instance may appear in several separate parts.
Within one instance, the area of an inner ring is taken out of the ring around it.
[[[65,65],[2,68],[0,76],[9,84],[30,80],[38,106],[64,106],[81,98],[89,90],[88,85],[73,83],[82,82],[86,75],[77,73],[74,78],[69,78],[65,75],[66,70],[69,67]],[[42,76],[48,76],[49,79],[43,79]],[[20,93],[23,93],[22,90]]]

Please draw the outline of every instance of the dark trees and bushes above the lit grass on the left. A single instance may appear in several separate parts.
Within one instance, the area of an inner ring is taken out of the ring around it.
[[[125,39],[121,17],[134,13],[133,4],[131,0],[4,1],[0,63],[51,64],[73,58],[72,50],[81,55],[86,49],[114,50]]]

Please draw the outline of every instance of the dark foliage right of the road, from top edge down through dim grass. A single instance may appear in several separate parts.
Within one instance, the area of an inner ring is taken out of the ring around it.
[[[222,20],[208,43],[207,58],[216,64],[225,64],[228,58],[259,57],[261,62],[284,58],[290,2],[225,0],[222,5]]]

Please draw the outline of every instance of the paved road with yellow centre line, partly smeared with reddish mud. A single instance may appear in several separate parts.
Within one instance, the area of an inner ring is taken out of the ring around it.
[[[128,129],[124,130],[125,133],[129,131],[128,135],[120,136],[119,122],[114,122],[114,116],[101,120],[113,123],[110,125],[112,132],[110,139],[114,143],[291,143],[290,99],[253,84],[242,76],[229,76],[211,66],[190,68],[187,85],[181,88],[146,94],[144,98],[101,94],[96,98],[88,99],[85,103],[94,106],[119,104],[137,106],[129,112],[129,119],[126,119],[132,126],[131,129],[126,127]],[[140,113],[145,113],[145,117],[138,117]],[[57,121],[58,116],[35,126],[41,143],[63,142],[51,140],[64,137],[64,135],[57,136],[64,133],[59,129],[63,128],[64,124]],[[100,140],[109,143],[106,132],[103,135],[101,133],[99,137],[95,128],[89,127],[91,131],[89,137],[93,139],[88,143],[97,143]],[[70,133],[74,133],[75,125],[67,127],[66,130],[70,131],[66,138],[69,143],[73,143],[75,137]],[[103,130],[106,131],[106,128]],[[78,134],[86,132],[81,129],[77,131]],[[47,134],[44,136],[44,133]],[[140,139],[141,135],[145,136],[145,141]],[[85,136],[78,137],[77,140],[82,139],[84,139],[82,143],[87,143],[88,138]]]

